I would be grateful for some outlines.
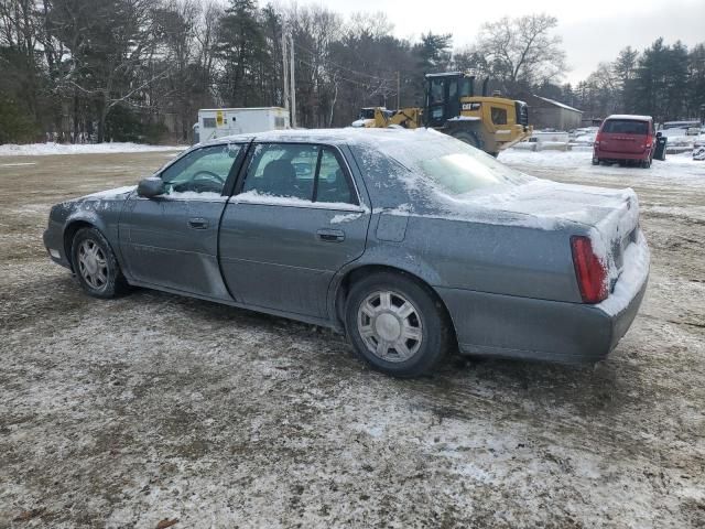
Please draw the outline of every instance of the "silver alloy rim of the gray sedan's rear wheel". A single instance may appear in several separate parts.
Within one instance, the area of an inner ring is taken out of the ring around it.
[[[357,311],[357,328],[367,349],[387,361],[404,361],[423,342],[419,310],[406,298],[388,290],[369,294]]]

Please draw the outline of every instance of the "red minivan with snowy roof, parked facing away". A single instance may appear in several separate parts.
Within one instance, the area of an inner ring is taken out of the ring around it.
[[[651,116],[609,116],[595,138],[593,164],[637,163],[651,166],[655,139]]]

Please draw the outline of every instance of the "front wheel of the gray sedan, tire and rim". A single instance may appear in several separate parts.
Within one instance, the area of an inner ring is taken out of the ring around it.
[[[94,298],[123,294],[128,283],[108,240],[96,228],[79,229],[72,242],[72,263],[78,283]]]

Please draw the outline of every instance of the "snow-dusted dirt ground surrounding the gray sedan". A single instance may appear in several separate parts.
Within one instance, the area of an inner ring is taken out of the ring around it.
[[[328,331],[95,300],[50,262],[52,204],[169,156],[0,158],[0,527],[705,527],[705,164],[508,156],[636,188],[641,312],[595,367],[454,358],[402,381]]]

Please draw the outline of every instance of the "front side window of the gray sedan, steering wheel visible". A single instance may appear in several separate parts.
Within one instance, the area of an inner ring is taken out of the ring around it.
[[[240,144],[204,147],[176,160],[161,174],[167,194],[220,195],[241,149]]]

